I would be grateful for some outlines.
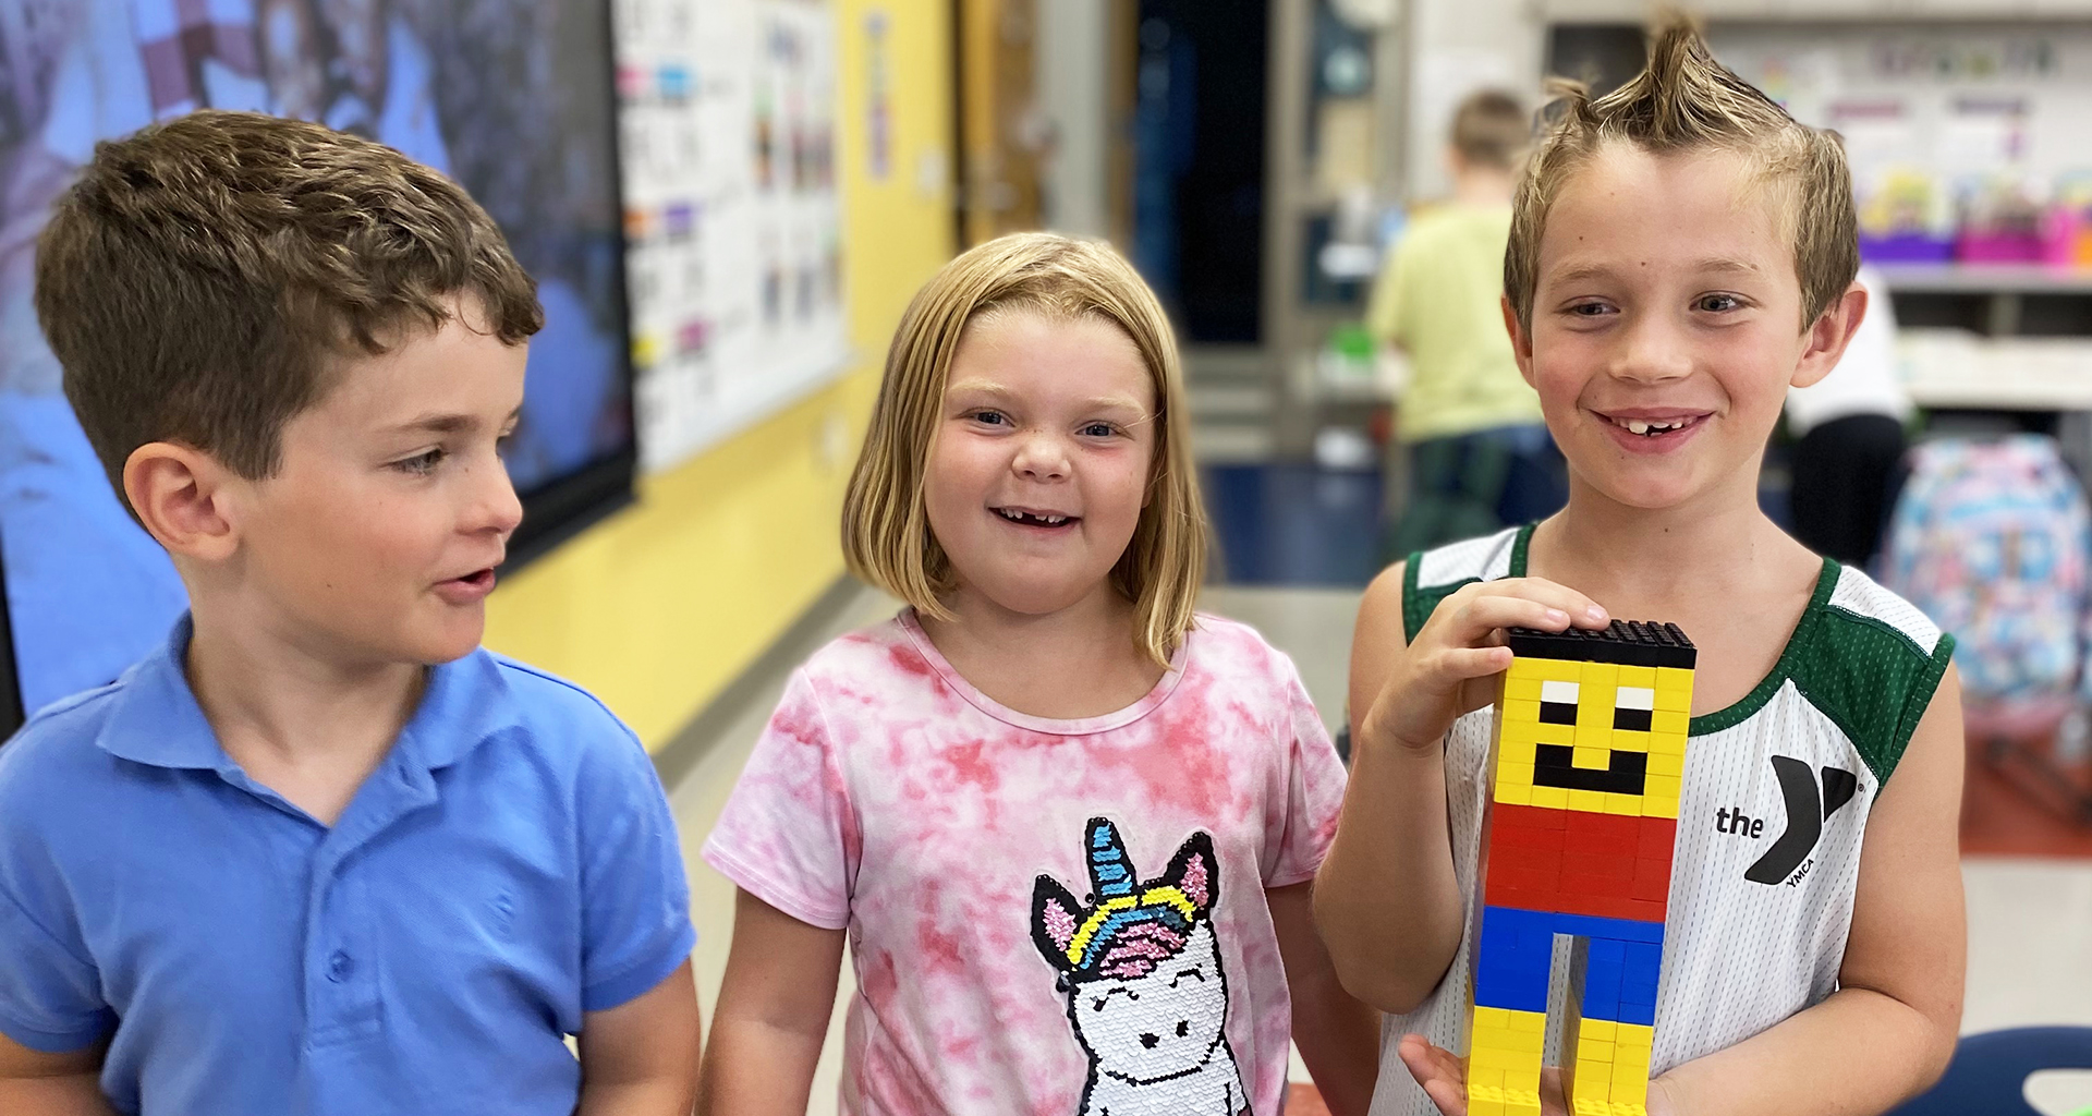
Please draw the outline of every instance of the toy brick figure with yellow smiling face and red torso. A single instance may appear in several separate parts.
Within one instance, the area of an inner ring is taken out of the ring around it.
[[[1573,938],[1563,1089],[1644,1116],[1692,641],[1676,624],[1510,632],[1481,844],[1473,1116],[1540,1116],[1554,936]]]

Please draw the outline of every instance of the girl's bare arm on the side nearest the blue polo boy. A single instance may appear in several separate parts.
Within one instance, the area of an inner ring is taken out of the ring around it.
[[[699,1116],[805,1114],[841,969],[841,930],[808,925],[738,894]]]

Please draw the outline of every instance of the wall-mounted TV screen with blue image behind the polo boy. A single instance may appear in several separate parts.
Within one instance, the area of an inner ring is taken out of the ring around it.
[[[205,107],[372,136],[462,182],[506,230],[546,312],[506,450],[525,507],[510,565],[632,492],[607,0],[4,0],[0,570],[15,670],[0,687],[29,712],[115,678],[186,605],[61,394],[31,308],[36,237],[96,140]],[[0,720],[0,739],[10,729]]]

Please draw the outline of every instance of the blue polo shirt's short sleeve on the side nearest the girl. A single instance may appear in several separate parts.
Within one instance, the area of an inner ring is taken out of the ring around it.
[[[617,1007],[690,955],[690,886],[667,796],[630,731],[590,750],[577,781],[582,825],[582,1009]]]

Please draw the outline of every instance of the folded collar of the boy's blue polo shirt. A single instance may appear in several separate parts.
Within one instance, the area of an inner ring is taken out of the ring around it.
[[[138,660],[117,683],[115,708],[96,745],[111,756],[165,768],[234,771],[218,743],[182,662],[195,632],[184,611],[167,641]],[[515,695],[500,664],[483,647],[429,672],[420,706],[400,731],[397,758],[429,771],[450,766],[481,741],[519,727]]]

